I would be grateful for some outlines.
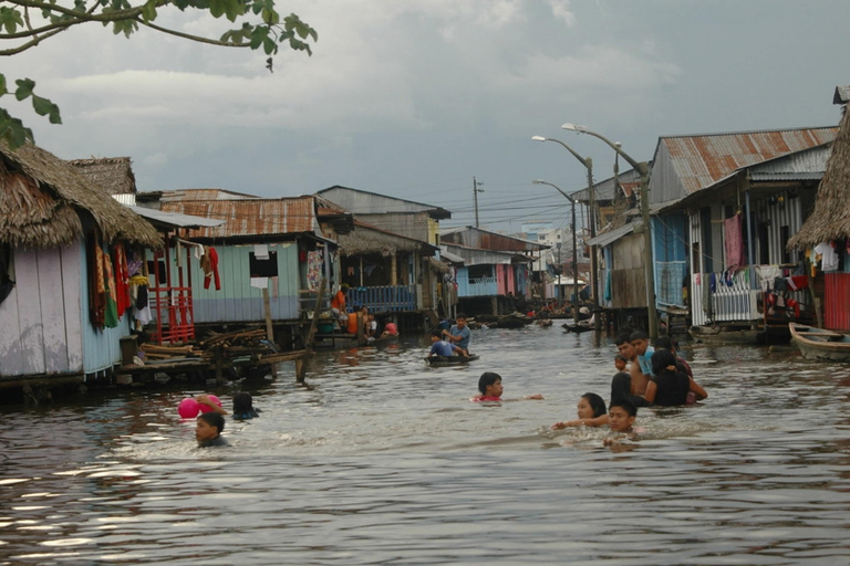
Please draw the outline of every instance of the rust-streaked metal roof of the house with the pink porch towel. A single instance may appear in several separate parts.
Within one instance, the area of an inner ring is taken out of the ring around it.
[[[662,137],[655,161],[665,150],[685,195],[691,195],[743,167],[829,144],[837,134],[832,126]]]

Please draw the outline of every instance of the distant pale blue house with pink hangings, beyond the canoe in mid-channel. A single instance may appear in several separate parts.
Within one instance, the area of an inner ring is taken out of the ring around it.
[[[458,310],[500,314],[530,298],[531,266],[546,244],[481,228],[458,228],[440,235],[443,247],[462,258],[457,270]]]

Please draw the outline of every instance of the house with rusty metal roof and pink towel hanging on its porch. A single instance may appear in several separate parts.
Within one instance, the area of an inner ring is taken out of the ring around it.
[[[810,213],[837,128],[662,137],[650,180],[662,312],[755,338],[805,316],[789,239]]]

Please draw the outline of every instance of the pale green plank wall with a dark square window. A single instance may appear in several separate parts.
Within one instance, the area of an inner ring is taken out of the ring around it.
[[[253,245],[215,245],[218,252],[218,273],[221,290],[215,283],[204,289],[204,272],[199,262],[191,260],[191,296],[196,323],[262,322],[262,290],[251,286],[250,253]],[[296,243],[270,243],[269,252],[277,252],[278,280],[269,280],[269,306],[273,321],[299,317],[299,263]]]

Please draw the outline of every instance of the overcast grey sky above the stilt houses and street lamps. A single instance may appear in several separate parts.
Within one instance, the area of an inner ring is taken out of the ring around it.
[[[266,55],[82,25],[2,60],[56,103],[51,125],[0,104],[63,159],[127,156],[139,191],[268,198],[340,185],[443,207],[440,226],[569,224],[566,192],[660,136],[832,126],[850,84],[846,0],[277,0],[319,34]],[[162,12],[219,36],[229,22]],[[1,45],[8,48],[9,45]]]

